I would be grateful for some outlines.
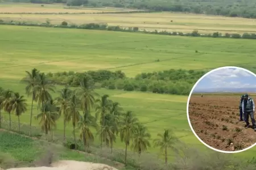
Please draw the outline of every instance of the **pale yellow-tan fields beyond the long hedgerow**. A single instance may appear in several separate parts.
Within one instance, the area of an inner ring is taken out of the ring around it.
[[[56,8],[55,8],[56,6]],[[156,13],[133,13],[133,14],[57,14],[59,12],[109,12],[109,11],[132,11],[123,8],[82,8],[64,9],[60,5],[22,5],[21,7],[6,5],[0,7],[1,12],[13,14],[0,14],[2,20],[20,20],[27,23],[45,23],[46,20],[52,24],[60,24],[65,21],[68,24],[106,23],[108,25],[119,25],[120,27],[139,27],[150,31],[170,32],[192,32],[199,33],[255,33],[255,19],[229,18],[225,16],[203,15],[203,14],[179,14],[172,12]],[[13,11],[13,12],[12,12]],[[56,12],[52,14],[15,14],[17,12]]]

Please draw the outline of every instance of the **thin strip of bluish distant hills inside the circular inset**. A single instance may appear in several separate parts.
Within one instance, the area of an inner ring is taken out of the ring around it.
[[[226,92],[233,92],[233,93],[243,93],[243,92],[251,92],[255,93],[256,88],[205,88],[200,90],[194,90],[193,93],[226,93]]]

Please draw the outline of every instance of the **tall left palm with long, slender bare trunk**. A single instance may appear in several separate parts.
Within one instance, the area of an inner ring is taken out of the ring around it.
[[[30,112],[30,136],[31,136],[31,125],[32,125],[32,112],[33,112],[33,103],[36,97],[35,86],[38,84],[38,75],[39,71],[36,69],[32,69],[31,73],[26,71],[27,77],[22,79],[22,83],[26,83],[27,86],[25,87],[27,96],[32,95],[31,101],[31,112]]]

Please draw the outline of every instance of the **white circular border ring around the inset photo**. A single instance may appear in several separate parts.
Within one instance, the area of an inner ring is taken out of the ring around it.
[[[188,101],[187,101],[187,118],[188,118],[188,124],[193,132],[193,134],[196,136],[197,139],[199,139],[199,141],[201,143],[203,143],[205,146],[207,146],[208,148],[211,148],[212,150],[214,151],[217,151],[217,152],[222,152],[222,153],[225,153],[225,154],[235,154],[235,153],[239,153],[239,152],[243,152],[243,151],[246,151],[246,150],[249,150],[250,148],[254,147],[256,145],[256,143],[254,143],[254,145],[251,145],[243,150],[240,150],[240,151],[222,151],[222,150],[218,150],[216,148],[213,148],[209,145],[207,145],[204,141],[202,141],[199,136],[196,134],[196,132],[193,130],[193,127],[191,125],[191,122],[190,122],[190,119],[189,119],[189,112],[188,112],[188,107],[189,107],[189,100],[190,100],[190,97],[192,95],[192,92],[194,90],[194,88],[197,86],[197,84],[201,81],[201,79],[203,79],[205,76],[207,76],[208,74],[210,73],[213,73],[214,71],[217,71],[217,70],[221,70],[221,69],[241,69],[243,71],[246,71],[247,73],[250,73],[252,75],[254,75],[256,77],[256,74],[254,74],[253,72],[249,71],[249,70],[246,70],[246,69],[243,69],[241,67],[235,67],[235,66],[225,66],[225,67],[218,67],[217,69],[213,69],[211,71],[209,71],[208,73],[206,73],[205,75],[203,75],[199,80],[197,80],[196,84],[193,86],[191,92],[189,93],[189,96],[188,96]]]

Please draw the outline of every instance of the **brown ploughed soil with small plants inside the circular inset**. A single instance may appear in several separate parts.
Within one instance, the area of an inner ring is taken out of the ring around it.
[[[218,150],[237,151],[253,145],[256,132],[239,121],[239,102],[240,96],[234,95],[192,95],[188,109],[193,130]]]

